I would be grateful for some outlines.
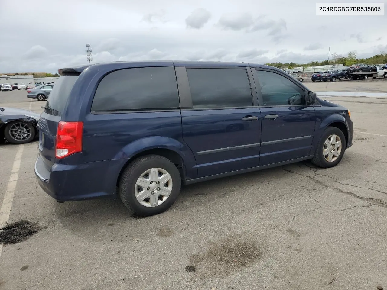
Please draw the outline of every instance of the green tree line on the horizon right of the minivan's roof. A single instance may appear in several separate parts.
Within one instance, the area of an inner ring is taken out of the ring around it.
[[[344,66],[353,65],[354,63],[366,63],[367,65],[373,64],[382,64],[387,63],[387,53],[381,51],[378,55],[371,56],[369,58],[357,58],[355,51],[350,51],[348,56],[338,55],[336,52],[332,53],[328,60],[324,61],[310,61],[308,63],[281,63],[281,62],[273,62],[273,63],[265,63],[265,65],[271,65],[272,67],[277,68],[294,68],[294,67],[314,67],[317,65],[338,65],[342,64]]]

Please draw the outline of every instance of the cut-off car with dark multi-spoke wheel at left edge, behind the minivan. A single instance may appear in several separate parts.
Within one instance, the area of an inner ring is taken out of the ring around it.
[[[31,142],[36,133],[39,114],[31,111],[0,107],[0,136],[9,143]]]

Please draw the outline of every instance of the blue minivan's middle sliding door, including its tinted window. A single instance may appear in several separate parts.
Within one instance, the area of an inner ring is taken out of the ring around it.
[[[182,109],[183,140],[198,177],[259,166],[261,116],[248,70],[186,67],[192,105]]]

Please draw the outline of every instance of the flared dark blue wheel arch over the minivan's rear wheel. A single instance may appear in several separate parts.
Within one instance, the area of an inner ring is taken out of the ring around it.
[[[191,149],[184,143],[165,136],[149,136],[135,140],[123,147],[115,155],[115,159],[130,159],[141,152],[151,149],[168,149],[176,152],[184,162],[187,177],[189,179],[197,177],[196,160]]]

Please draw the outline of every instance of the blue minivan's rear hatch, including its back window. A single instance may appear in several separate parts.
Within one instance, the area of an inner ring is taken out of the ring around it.
[[[67,99],[77,78],[78,76],[74,74],[61,76],[53,86],[46,105],[42,106],[45,110],[40,115],[38,122],[38,148],[47,169],[50,169],[55,163],[55,140],[58,123],[62,118]]]

